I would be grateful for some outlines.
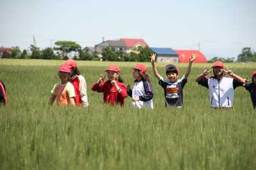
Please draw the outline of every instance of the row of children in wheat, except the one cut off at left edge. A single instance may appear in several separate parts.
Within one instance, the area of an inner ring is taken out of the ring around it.
[[[191,66],[198,55],[191,55],[189,58],[188,68],[186,73],[179,78],[179,68],[173,64],[168,64],[166,69],[167,79],[164,79],[156,69],[155,60],[156,54],[150,55],[154,76],[159,81],[159,85],[164,90],[165,106],[182,108],[183,104],[183,89],[188,81],[188,76],[191,71]],[[238,86],[244,86],[250,92],[253,108],[256,108],[256,71],[252,74],[252,83],[249,83],[248,78],[244,79],[234,74],[227,68],[224,69],[224,64],[221,61],[212,64],[212,70],[205,70],[198,75],[196,82],[209,89],[211,107],[213,108],[232,108],[234,101],[234,89]],[[138,108],[154,108],[153,96],[154,90],[150,83],[150,78],[147,74],[147,67],[143,64],[137,64],[132,67],[134,85],[125,85],[120,76],[120,68],[118,66],[109,66],[105,72],[108,80],[105,81],[105,76],[100,76],[97,82],[93,83],[92,90],[103,92],[103,100],[106,104],[120,104],[124,106],[125,97],[132,98],[132,107]],[[208,77],[213,71],[214,76]],[[228,76],[226,75],[228,74]],[[58,75],[61,82],[56,83],[51,91],[50,103],[57,100],[58,106],[78,105],[89,106],[88,97],[86,94],[86,81],[81,76],[75,60],[68,59],[65,64],[62,64],[58,69]]]

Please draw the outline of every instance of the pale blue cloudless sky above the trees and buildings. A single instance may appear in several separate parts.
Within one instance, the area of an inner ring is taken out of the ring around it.
[[[86,1],[1,0],[0,46],[41,49],[54,41],[94,46],[143,38],[152,47],[198,50],[207,59],[256,51],[255,0]]]

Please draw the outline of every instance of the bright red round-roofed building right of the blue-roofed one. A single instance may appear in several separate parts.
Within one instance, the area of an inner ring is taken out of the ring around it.
[[[180,63],[182,63],[182,62],[189,62],[189,57],[193,53],[198,55],[198,57],[194,61],[194,63],[205,63],[205,62],[207,62],[204,54],[202,54],[198,50],[174,50],[174,51],[179,53],[179,62]]]

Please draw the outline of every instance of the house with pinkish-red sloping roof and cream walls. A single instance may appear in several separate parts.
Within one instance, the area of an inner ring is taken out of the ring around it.
[[[135,52],[138,53],[136,48],[139,46],[146,47],[148,44],[144,41],[144,39],[134,39],[134,38],[121,38],[120,40],[125,42],[126,45],[126,52],[125,53],[131,53]]]

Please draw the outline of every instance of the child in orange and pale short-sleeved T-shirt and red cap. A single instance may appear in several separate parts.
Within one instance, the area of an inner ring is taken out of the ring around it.
[[[51,91],[52,96],[49,99],[51,105],[55,99],[57,99],[58,106],[75,105],[75,90],[72,83],[68,81],[70,72],[70,66],[68,66],[67,64],[62,64],[59,67],[58,75],[61,82],[56,83]]]

